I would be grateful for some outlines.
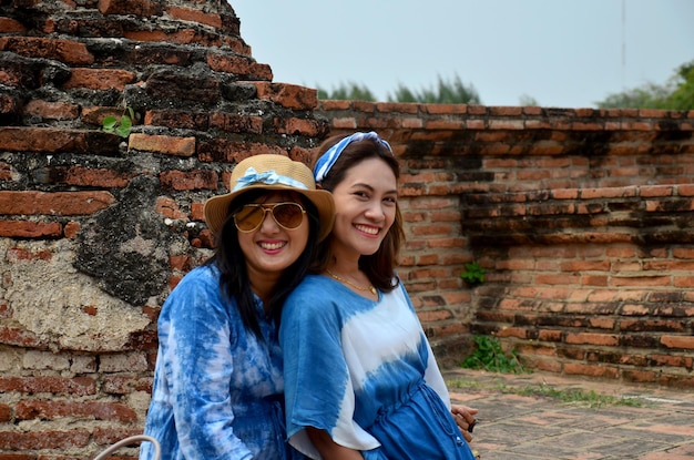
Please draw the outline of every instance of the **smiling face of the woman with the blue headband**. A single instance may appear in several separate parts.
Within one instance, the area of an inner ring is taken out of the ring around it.
[[[355,259],[376,253],[395,222],[398,192],[392,170],[380,159],[364,160],[347,170],[333,198],[330,244],[336,256]]]

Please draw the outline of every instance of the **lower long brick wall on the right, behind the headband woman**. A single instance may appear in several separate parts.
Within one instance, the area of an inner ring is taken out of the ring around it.
[[[452,356],[467,343],[450,331],[493,334],[531,368],[694,388],[694,111],[325,101],[319,113],[395,146],[401,273]],[[473,260],[488,273],[470,289],[458,275]]]

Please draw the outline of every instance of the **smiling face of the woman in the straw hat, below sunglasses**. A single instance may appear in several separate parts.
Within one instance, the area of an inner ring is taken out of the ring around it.
[[[273,192],[263,195],[253,203],[273,204],[294,202],[302,204],[298,196],[292,193]],[[253,280],[256,276],[282,274],[296,262],[306,248],[309,234],[309,223],[306,214],[302,223],[293,229],[277,225],[269,212],[266,212],[262,224],[248,233],[238,232],[238,245],[246,258],[248,276]]]

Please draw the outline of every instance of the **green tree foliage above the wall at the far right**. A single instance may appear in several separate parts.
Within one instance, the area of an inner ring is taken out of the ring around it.
[[[682,64],[665,84],[645,83],[640,88],[608,95],[600,109],[694,109],[694,61]]]

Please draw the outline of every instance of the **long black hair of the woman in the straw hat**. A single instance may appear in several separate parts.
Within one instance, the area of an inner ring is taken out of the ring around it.
[[[255,202],[261,196],[274,191],[256,188],[251,190],[235,197],[228,206],[228,213],[224,225],[216,236],[215,254],[205,263],[215,265],[221,273],[220,289],[229,299],[235,298],[241,314],[241,319],[246,330],[251,330],[256,337],[263,338],[261,326],[257,318],[257,307],[255,297],[251,289],[251,280],[246,269],[246,257],[241,251],[238,244],[238,229],[234,225],[233,214],[244,204]],[[292,193],[292,192],[289,192]],[[271,318],[275,323],[276,330],[279,328],[279,318],[282,317],[282,307],[289,293],[299,284],[306,275],[310,262],[315,257],[318,241],[318,209],[316,206],[299,193],[295,195],[308,216],[309,233],[306,248],[298,259],[289,267],[285,268],[277,280],[277,285],[273,290],[268,305]]]

